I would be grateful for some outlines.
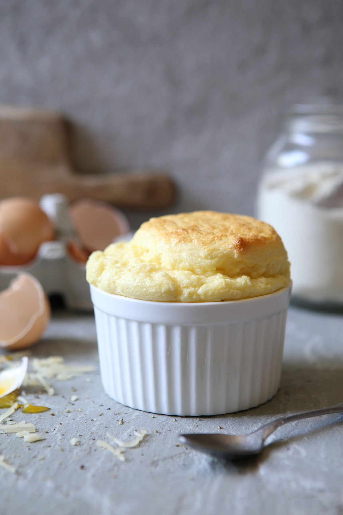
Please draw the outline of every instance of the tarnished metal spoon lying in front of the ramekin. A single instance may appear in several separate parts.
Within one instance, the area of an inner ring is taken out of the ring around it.
[[[205,452],[214,456],[222,456],[228,459],[238,459],[244,456],[259,454],[263,449],[265,440],[283,424],[296,422],[304,418],[319,417],[332,413],[343,413],[343,402],[331,408],[306,411],[290,417],[281,417],[263,425],[248,435],[223,435],[223,434],[189,434],[179,435],[179,440],[192,449]]]

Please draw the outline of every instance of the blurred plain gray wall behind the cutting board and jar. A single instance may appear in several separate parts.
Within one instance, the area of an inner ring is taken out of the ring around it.
[[[343,3],[2,0],[0,48],[0,102],[65,113],[78,169],[165,169],[173,211],[251,214],[280,109],[343,92]]]

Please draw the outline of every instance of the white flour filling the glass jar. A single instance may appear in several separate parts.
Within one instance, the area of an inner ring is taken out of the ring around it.
[[[343,303],[343,163],[270,170],[259,186],[257,216],[282,238],[293,294]]]

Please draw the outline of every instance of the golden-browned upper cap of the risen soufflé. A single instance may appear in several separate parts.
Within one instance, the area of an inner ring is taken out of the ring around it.
[[[138,255],[143,249],[149,263],[196,273],[220,270],[229,277],[270,275],[280,260],[287,261],[273,227],[250,216],[214,211],[151,218],[136,232],[132,246]],[[272,255],[277,263],[269,259]]]

